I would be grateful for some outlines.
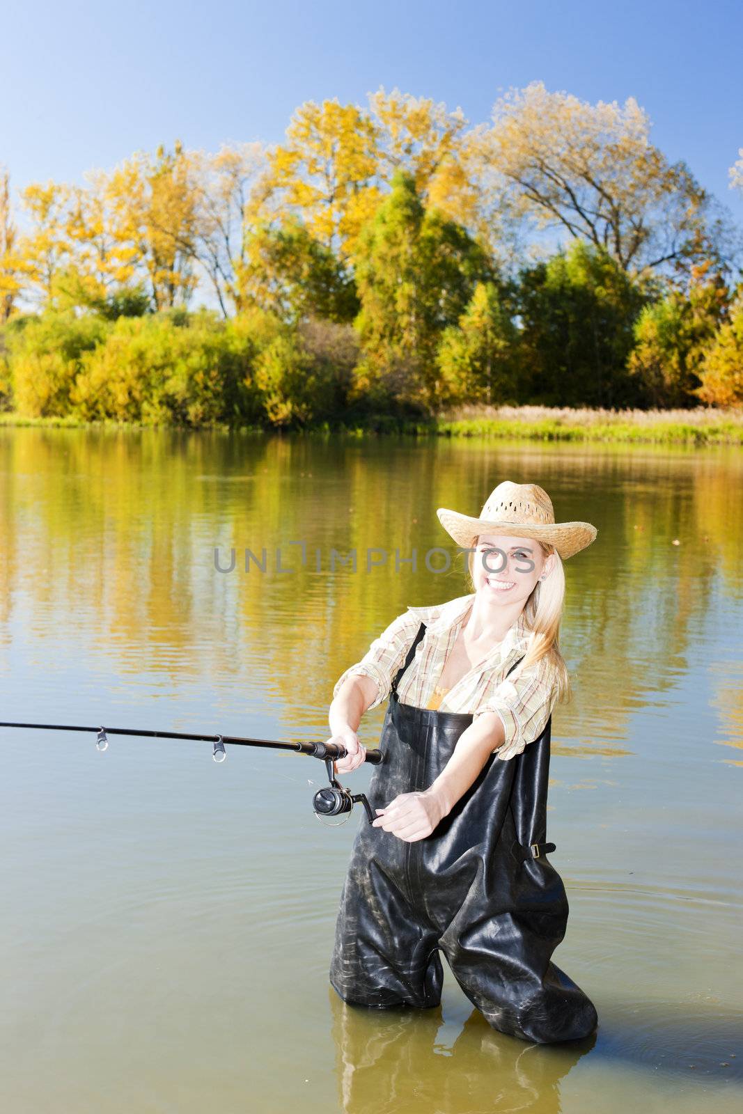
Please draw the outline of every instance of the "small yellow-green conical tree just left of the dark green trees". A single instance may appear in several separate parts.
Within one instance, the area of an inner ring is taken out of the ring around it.
[[[516,403],[518,334],[495,282],[479,282],[459,324],[442,334],[437,355],[451,401]]]

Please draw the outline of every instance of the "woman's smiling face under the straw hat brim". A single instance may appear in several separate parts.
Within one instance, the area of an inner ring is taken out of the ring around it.
[[[476,543],[472,583],[477,593],[496,604],[524,606],[539,577],[554,564],[553,554],[545,556],[534,538],[482,534]]]

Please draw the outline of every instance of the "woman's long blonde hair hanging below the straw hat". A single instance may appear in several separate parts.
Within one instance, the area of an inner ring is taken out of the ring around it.
[[[470,543],[471,547],[477,546],[479,535]],[[560,619],[565,605],[565,566],[555,546],[537,541],[541,547],[545,557],[555,555],[555,563],[551,571],[545,576],[544,580],[537,580],[531,594],[524,605],[524,620],[527,631],[530,633],[527,652],[509,676],[519,676],[524,670],[537,662],[545,659],[544,667],[553,670],[557,682],[557,702],[565,703],[570,700],[573,688],[570,685],[570,674],[565,664],[565,658],[559,648]],[[475,580],[472,568],[475,566],[475,553],[470,553],[467,559],[468,579],[470,590],[475,592]]]

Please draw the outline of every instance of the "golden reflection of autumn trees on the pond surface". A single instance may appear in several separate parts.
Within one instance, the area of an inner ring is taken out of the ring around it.
[[[504,477],[537,480],[558,518],[599,529],[566,566],[561,645],[577,698],[558,710],[557,746],[626,753],[628,719],[667,703],[715,605],[726,599],[730,619],[741,617],[743,500],[731,497],[740,450],[28,428],[0,430],[0,471],[2,645],[17,617],[48,641],[53,616],[97,638],[124,676],[150,668],[238,682],[257,667],[286,731],[324,731],[334,681],[408,604],[466,590],[463,558],[436,508],[476,510]],[[320,571],[313,559],[275,570],[276,548],[289,565],[292,541],[322,555]],[[265,547],[272,560],[265,574],[241,559],[219,574],[215,547],[225,559],[232,547]],[[403,559],[416,549],[419,566],[395,570],[390,556],[366,571],[370,547]],[[426,568],[433,547],[452,554],[447,573]],[[355,549],[358,570],[330,571],[331,549]],[[711,663],[715,741],[736,750],[737,656]]]

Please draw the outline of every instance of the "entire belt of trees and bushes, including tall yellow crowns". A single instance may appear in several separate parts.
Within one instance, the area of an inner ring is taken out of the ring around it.
[[[22,232],[0,175],[0,408],[29,420],[740,404],[740,311],[708,274],[737,237],[632,100],[535,81],[469,128],[380,89],[304,102],[271,149],[160,145],[19,201]],[[502,286],[532,231],[571,246]],[[189,312],[204,280],[226,323]]]

